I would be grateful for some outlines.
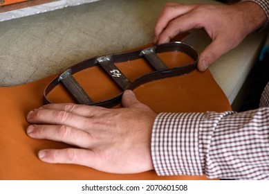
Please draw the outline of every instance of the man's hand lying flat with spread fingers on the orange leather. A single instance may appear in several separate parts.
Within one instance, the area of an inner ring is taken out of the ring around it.
[[[125,91],[120,109],[51,104],[29,112],[30,137],[62,141],[78,148],[41,150],[48,163],[80,164],[108,173],[153,169],[151,129],[156,118],[149,107]]]

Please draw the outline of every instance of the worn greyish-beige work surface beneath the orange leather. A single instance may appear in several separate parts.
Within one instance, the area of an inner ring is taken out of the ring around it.
[[[165,0],[101,0],[0,23],[0,85],[21,85],[64,71],[97,55],[149,44]],[[179,0],[180,3],[217,3]],[[264,35],[254,33],[210,70],[230,103],[257,59]],[[198,51],[210,43],[194,30],[187,43]]]

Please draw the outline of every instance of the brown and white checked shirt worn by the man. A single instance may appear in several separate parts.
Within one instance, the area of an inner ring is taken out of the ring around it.
[[[255,2],[268,15],[269,1]],[[269,83],[260,105],[241,113],[158,114],[151,134],[156,173],[269,179]]]

